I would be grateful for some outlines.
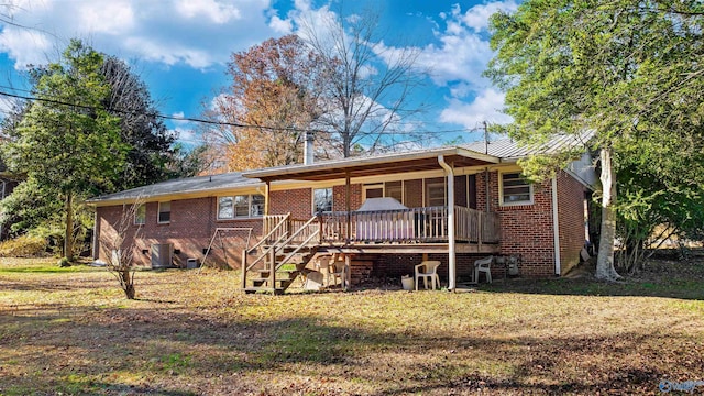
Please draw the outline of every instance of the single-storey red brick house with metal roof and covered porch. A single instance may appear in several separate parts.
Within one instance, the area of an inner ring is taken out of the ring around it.
[[[575,144],[561,136],[525,148],[502,140],[163,182],[89,200],[94,255],[106,260],[100,246],[136,202],[125,241],[136,233],[144,265],[166,255],[185,267],[207,253],[209,265],[244,264],[250,276],[292,262],[300,270],[333,253],[345,258],[354,285],[413,274],[429,257],[442,262],[441,280],[452,289],[471,276],[474,260],[492,254],[519,256],[521,276],[559,276],[584,245],[596,180],[591,157],[540,184],[524,180],[516,162]],[[400,207],[363,205],[389,197]]]

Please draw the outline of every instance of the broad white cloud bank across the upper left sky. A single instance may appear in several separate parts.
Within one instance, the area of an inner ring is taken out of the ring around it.
[[[0,11],[30,29],[0,23],[0,51],[22,69],[55,59],[78,37],[123,58],[207,68],[282,34],[286,22],[271,7],[271,0],[13,1]]]

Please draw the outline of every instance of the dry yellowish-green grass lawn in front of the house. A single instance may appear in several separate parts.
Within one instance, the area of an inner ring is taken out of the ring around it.
[[[130,301],[101,268],[0,260],[1,395],[656,395],[704,380],[701,263],[622,285],[280,297],[242,294],[237,272],[141,272]]]

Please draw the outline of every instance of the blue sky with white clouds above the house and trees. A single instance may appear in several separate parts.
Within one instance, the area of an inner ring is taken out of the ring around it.
[[[492,53],[486,22],[496,10],[512,11],[514,0],[369,0],[380,10],[384,45],[415,46],[419,65],[431,70],[422,92],[432,108],[424,130],[437,144],[476,133],[482,121],[507,122],[503,95],[481,76]],[[345,15],[363,1],[343,2]],[[355,9],[358,8],[358,9]],[[117,55],[134,66],[165,114],[198,117],[227,87],[233,52],[266,38],[296,33],[301,18],[338,12],[340,3],[316,0],[6,0],[0,13],[31,29],[0,23],[0,90],[26,88],[28,64],[56,59],[72,37]],[[0,116],[10,103],[0,97]],[[169,122],[186,143],[198,143],[191,122]]]

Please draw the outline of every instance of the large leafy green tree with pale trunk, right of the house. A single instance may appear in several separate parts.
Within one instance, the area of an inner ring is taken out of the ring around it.
[[[486,74],[506,91],[510,135],[530,144],[594,133],[604,212],[600,277],[618,276],[616,179],[625,156],[657,164],[664,186],[701,183],[702,15],[694,0],[528,0],[492,16],[496,56]]]

